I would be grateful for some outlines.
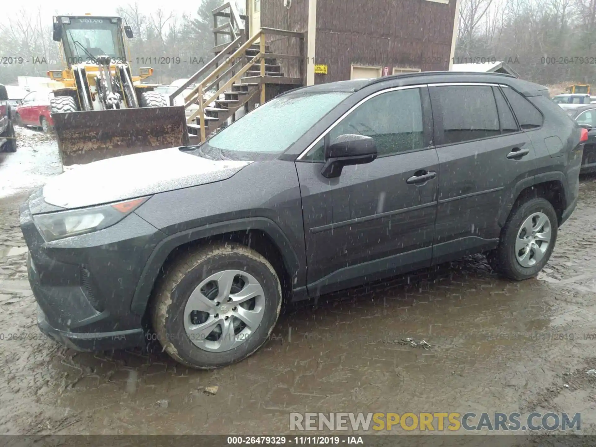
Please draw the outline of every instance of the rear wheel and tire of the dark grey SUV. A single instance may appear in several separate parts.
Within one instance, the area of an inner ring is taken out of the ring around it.
[[[554,250],[558,219],[545,198],[517,204],[501,230],[499,246],[488,254],[498,274],[511,280],[527,280],[544,268]]]

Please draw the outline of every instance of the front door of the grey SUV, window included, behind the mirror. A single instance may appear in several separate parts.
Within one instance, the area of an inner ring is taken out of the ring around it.
[[[389,89],[296,162],[311,296],[430,265],[439,181],[430,122],[426,86]],[[346,134],[371,136],[378,157],[325,178],[325,145]]]

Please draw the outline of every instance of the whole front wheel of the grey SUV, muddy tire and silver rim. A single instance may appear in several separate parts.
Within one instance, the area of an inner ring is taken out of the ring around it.
[[[151,319],[173,359],[206,370],[259,349],[280,310],[280,280],[268,260],[240,244],[217,244],[166,267]]]

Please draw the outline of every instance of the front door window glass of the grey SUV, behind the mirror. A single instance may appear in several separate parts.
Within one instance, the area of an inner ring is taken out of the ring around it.
[[[374,139],[378,157],[424,148],[420,89],[397,90],[365,101],[344,117],[305,156],[305,160],[325,160],[325,144],[341,135],[365,135]],[[327,140],[327,142],[325,142]]]

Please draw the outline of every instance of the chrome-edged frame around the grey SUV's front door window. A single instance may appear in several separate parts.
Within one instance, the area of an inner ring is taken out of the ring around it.
[[[352,107],[350,107],[344,114],[342,114],[342,116],[340,116],[337,120],[335,120],[333,122],[333,124],[331,124],[327,129],[325,129],[324,132],[322,132],[321,135],[317,136],[312,142],[311,144],[308,145],[308,147],[306,147],[305,150],[303,150],[300,155],[296,158],[296,162],[302,162],[302,163],[318,163],[318,164],[322,164],[324,162],[320,162],[318,160],[303,160],[303,157],[306,156],[306,154],[308,154],[312,148],[316,147],[316,145],[319,144],[319,142],[321,142],[321,139],[327,138],[328,139],[328,135],[330,134],[331,131],[333,131],[333,129],[335,128],[335,126],[339,125],[340,122],[342,122],[342,120],[344,118],[346,118],[350,113],[352,113],[352,111],[356,110],[356,108],[360,107],[360,105],[366,103],[368,100],[371,100],[374,97],[377,97],[378,95],[381,95],[383,93],[388,93],[388,92],[393,92],[393,91],[399,91],[399,90],[409,90],[409,89],[424,89],[424,88],[428,88],[428,84],[417,84],[417,85],[405,85],[405,86],[399,86],[399,87],[389,87],[389,88],[385,88],[383,90],[379,90],[376,91],[374,93],[371,93],[370,95],[368,95],[366,98],[362,98],[362,100],[358,101],[358,103],[352,105]],[[428,94],[428,90],[427,90],[427,94]],[[421,96],[424,95],[424,92],[421,92]],[[429,99],[429,98],[427,98]],[[419,151],[424,151],[424,150],[428,150],[430,148],[434,147],[434,131],[433,129],[430,129],[430,135],[428,136],[429,138],[427,138],[427,126],[431,126],[433,125],[433,119],[432,119],[432,108],[430,107],[430,100],[429,100],[429,104],[427,105],[427,108],[429,110],[425,110],[425,104],[424,104],[424,98],[420,98],[420,102],[421,102],[421,107],[422,107],[422,119],[423,119],[423,132],[424,132],[424,139],[425,139],[425,143],[428,142],[429,144],[426,145],[426,147],[420,148],[420,149],[412,149],[409,151],[403,151],[403,152],[399,152],[399,153],[395,153],[395,154],[387,154],[386,156],[383,157],[379,157],[379,158],[385,158],[385,157],[392,157],[392,156],[396,156],[396,155],[402,155],[402,154],[408,154],[408,153],[412,153],[412,152],[419,152]],[[429,116],[427,116],[427,114]],[[325,144],[327,144],[327,142],[325,142]]]

